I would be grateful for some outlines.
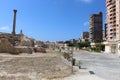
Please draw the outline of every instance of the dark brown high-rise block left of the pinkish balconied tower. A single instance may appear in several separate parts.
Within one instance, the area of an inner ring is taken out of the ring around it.
[[[102,12],[90,15],[89,40],[90,42],[102,41]]]

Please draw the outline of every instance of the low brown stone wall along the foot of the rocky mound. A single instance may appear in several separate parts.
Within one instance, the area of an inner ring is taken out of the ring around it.
[[[45,48],[37,47],[30,48],[28,46],[13,46],[8,39],[1,38],[0,39],[0,53],[11,53],[11,54],[19,54],[19,53],[28,53],[32,54],[33,52],[46,53]]]

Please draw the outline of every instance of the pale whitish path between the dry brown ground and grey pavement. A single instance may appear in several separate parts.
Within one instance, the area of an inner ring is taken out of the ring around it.
[[[64,62],[68,63],[67,60],[63,59]],[[69,62],[68,65],[71,65]],[[72,69],[71,69],[72,70]],[[52,79],[52,80],[105,80],[94,74],[94,72],[89,71],[89,69],[82,68],[79,69],[78,66],[74,66],[74,74],[65,78]]]

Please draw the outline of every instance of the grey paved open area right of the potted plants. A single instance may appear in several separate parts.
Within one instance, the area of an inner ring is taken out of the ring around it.
[[[120,57],[105,53],[76,53],[74,58],[82,61],[82,67],[93,71],[106,80],[120,80]]]

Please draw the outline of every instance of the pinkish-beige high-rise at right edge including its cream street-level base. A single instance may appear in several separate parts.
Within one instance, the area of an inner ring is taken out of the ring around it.
[[[120,0],[106,0],[105,52],[120,53]]]

